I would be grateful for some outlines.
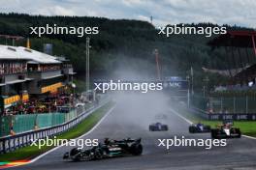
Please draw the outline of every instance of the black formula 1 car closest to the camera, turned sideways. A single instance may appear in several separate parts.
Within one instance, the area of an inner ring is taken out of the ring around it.
[[[105,139],[103,144],[91,149],[82,150],[74,148],[70,152],[64,154],[63,159],[71,159],[73,161],[80,160],[99,160],[106,157],[114,156],[140,156],[143,153],[143,145],[141,138],[139,139],[123,139],[123,140],[109,140]]]

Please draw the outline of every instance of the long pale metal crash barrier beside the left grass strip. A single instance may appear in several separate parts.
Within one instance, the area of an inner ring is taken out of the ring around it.
[[[9,135],[0,138],[0,154],[9,153],[15,151],[18,148],[28,146],[31,144],[31,140],[37,140],[51,137],[53,135],[60,134],[64,131],[67,131],[69,128],[73,128],[80,124],[87,116],[89,116],[93,111],[105,105],[109,99],[105,99],[100,104],[92,105],[90,108],[87,108],[85,111],[79,114],[78,117],[70,120],[61,125],[57,125],[50,128],[40,128],[38,130],[30,130],[22,132],[16,135]]]

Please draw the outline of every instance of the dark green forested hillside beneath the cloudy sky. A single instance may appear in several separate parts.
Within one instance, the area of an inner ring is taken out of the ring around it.
[[[54,55],[64,55],[70,59],[79,74],[85,71],[85,39],[75,35],[44,35],[38,38],[30,35],[30,26],[97,26],[100,33],[91,38],[90,69],[92,77],[112,75],[118,69],[130,68],[132,71],[155,75],[153,51],[158,48],[163,76],[180,74],[185,76],[191,67],[195,71],[195,88],[202,88],[205,74],[202,67],[227,69],[233,67],[225,57],[224,51],[212,51],[207,45],[211,38],[205,35],[173,35],[166,38],[150,23],[140,20],[108,19],[87,16],[44,16],[28,14],[0,14],[0,34],[30,38],[32,48],[42,51],[43,43],[53,44]],[[187,24],[191,26],[217,26],[211,23]],[[230,27],[229,29],[244,29]],[[12,44],[11,41],[7,41]],[[25,45],[26,40],[16,42]],[[6,40],[1,39],[1,43]],[[219,84],[214,78],[213,84]],[[209,77],[211,79],[211,77]]]

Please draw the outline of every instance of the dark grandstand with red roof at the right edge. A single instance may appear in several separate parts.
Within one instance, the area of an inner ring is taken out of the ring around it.
[[[230,31],[208,44],[214,49],[223,47],[230,65],[226,71],[215,71],[228,75],[227,90],[249,90],[256,84],[256,31]],[[234,66],[234,68],[231,68]],[[204,71],[209,71],[204,69]],[[211,71],[212,72],[212,71]]]

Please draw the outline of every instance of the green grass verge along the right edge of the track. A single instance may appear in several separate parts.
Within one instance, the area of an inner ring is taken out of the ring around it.
[[[188,120],[192,121],[193,123],[201,122],[205,125],[209,125],[211,128],[214,128],[222,123],[221,121],[208,121],[204,118],[201,118],[199,115],[193,112],[195,111],[190,111],[188,109],[180,107],[178,108],[178,113],[187,118]],[[234,127],[240,128],[242,134],[256,137],[256,122],[235,121]]]

